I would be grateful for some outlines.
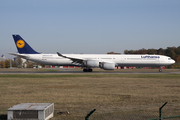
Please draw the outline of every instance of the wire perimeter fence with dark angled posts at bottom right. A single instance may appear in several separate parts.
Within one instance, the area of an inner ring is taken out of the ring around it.
[[[92,115],[92,114],[91,114]],[[144,110],[122,110],[107,114],[94,114],[90,116],[92,120],[180,120],[180,106],[177,104],[164,103],[157,109]],[[89,118],[90,118],[89,117]],[[91,120],[85,119],[85,120]]]

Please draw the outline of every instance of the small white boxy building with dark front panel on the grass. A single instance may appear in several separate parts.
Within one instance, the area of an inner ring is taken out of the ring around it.
[[[8,109],[8,120],[48,120],[53,117],[54,103],[21,103]]]

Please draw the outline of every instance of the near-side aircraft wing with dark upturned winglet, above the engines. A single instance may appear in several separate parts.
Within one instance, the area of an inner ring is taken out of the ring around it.
[[[86,59],[84,59],[84,58],[79,58],[79,57],[78,57],[78,58],[76,58],[76,57],[68,57],[68,56],[64,56],[64,55],[60,54],[59,52],[57,52],[57,54],[58,54],[58,56],[60,56],[60,57],[68,58],[68,59],[72,60],[73,63],[84,64],[83,61],[86,61]]]

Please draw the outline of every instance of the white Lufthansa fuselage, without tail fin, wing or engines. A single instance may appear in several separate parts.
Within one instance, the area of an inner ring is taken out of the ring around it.
[[[21,54],[25,59],[45,65],[80,66],[71,59],[57,54]],[[99,62],[113,62],[116,66],[160,67],[175,63],[173,59],[164,55],[112,55],[112,54],[63,54],[71,58],[96,60]]]

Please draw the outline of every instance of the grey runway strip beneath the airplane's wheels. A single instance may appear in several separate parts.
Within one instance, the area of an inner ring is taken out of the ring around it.
[[[119,69],[119,70],[101,70],[94,69],[93,72],[83,72],[82,69],[0,69],[0,74],[180,74],[180,69],[164,69],[159,72],[158,69]]]

